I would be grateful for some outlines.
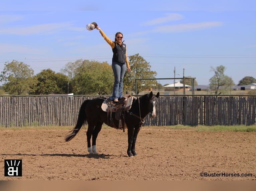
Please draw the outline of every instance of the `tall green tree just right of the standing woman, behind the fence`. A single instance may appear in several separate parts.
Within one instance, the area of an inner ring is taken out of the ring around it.
[[[151,66],[139,54],[129,56],[131,72],[126,72],[124,76],[124,91],[135,92],[135,79],[152,79],[155,78],[156,72],[151,71]],[[137,80],[137,92],[151,88],[157,84],[156,80]]]

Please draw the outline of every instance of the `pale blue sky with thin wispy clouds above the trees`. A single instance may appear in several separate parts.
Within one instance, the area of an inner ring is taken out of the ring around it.
[[[35,74],[59,72],[78,59],[111,64],[112,50],[99,31],[86,30],[96,22],[113,40],[122,32],[128,56],[142,56],[156,78],[173,78],[175,67],[176,78],[184,69],[208,85],[210,67],[224,65],[238,84],[245,76],[256,78],[255,7],[254,0],[2,1],[0,71],[12,60]]]

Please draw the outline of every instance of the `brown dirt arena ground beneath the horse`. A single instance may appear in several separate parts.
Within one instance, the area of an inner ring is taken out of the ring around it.
[[[135,157],[127,129],[103,128],[98,155],[87,151],[86,128],[65,142],[68,132],[0,130],[0,180],[256,180],[255,132],[142,127]],[[22,159],[22,176],[5,177],[4,159]]]

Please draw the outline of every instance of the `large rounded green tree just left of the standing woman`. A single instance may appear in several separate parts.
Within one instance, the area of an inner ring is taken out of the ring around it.
[[[84,60],[75,69],[72,84],[78,95],[111,95],[114,84],[112,67],[107,62]]]

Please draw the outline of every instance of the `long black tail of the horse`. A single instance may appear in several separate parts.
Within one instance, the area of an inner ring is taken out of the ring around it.
[[[85,115],[85,107],[86,104],[90,101],[90,99],[87,99],[83,102],[83,104],[80,106],[79,114],[78,114],[78,119],[77,119],[77,124],[76,126],[70,131],[72,132],[71,134],[67,135],[65,137],[65,141],[70,141],[73,139],[78,131],[81,129],[81,127],[86,123],[86,115]]]

